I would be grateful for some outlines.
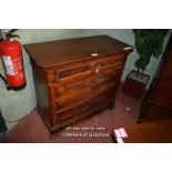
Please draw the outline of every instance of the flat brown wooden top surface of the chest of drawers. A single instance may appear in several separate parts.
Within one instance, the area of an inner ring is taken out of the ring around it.
[[[132,50],[129,44],[108,36],[55,40],[50,42],[26,44],[24,49],[34,62],[42,68],[92,59],[104,54],[115,54]]]

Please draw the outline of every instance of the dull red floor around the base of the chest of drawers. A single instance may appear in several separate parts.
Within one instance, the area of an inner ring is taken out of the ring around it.
[[[111,143],[113,142],[111,134],[114,127],[134,124],[136,122],[140,103],[141,100],[123,94],[120,89],[113,110],[105,110],[97,115],[92,115],[90,119],[71,125],[72,130],[65,128],[53,136],[50,136],[37,110],[33,110],[3,136],[6,138],[3,142]],[[73,135],[71,136],[70,134]]]

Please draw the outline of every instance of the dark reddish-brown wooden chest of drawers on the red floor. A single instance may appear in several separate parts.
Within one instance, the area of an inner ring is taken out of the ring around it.
[[[24,45],[33,69],[38,109],[51,133],[113,108],[132,48],[108,36]]]

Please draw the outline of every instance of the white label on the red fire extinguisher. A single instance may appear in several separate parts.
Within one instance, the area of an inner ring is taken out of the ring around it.
[[[14,69],[12,65],[11,57],[2,55],[2,58],[3,58],[4,65],[6,65],[7,74],[14,75]]]

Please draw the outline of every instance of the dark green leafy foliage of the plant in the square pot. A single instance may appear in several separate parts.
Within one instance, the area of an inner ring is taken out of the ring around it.
[[[138,72],[144,72],[150,63],[151,57],[159,58],[162,53],[163,39],[168,33],[166,29],[133,29],[135,38],[135,49],[139,59],[134,65]]]

